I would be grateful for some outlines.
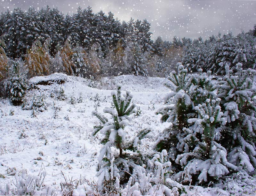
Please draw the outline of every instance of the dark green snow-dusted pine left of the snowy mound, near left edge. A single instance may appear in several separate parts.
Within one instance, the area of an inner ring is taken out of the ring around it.
[[[21,59],[13,60],[11,78],[8,79],[8,95],[13,105],[20,105],[23,102],[25,91],[28,89],[28,81],[21,72],[23,61]]]

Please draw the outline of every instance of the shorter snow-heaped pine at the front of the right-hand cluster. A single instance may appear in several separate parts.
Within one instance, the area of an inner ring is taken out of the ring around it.
[[[208,182],[226,176],[228,169],[237,170],[235,165],[228,162],[227,150],[218,143],[219,128],[226,123],[219,104],[220,98],[206,99],[202,105],[198,104],[195,107],[198,117],[188,119],[188,123],[194,124],[183,128],[188,134],[179,139],[180,144],[191,145],[193,141],[195,147],[189,151],[185,146],[185,153],[177,156],[175,162],[182,167],[174,177],[177,181],[196,185],[207,182],[208,185]]]

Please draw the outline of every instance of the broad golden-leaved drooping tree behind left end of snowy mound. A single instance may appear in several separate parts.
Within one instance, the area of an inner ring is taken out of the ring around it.
[[[33,42],[31,49],[27,50],[25,65],[28,66],[28,73],[30,77],[49,74],[49,47],[51,42],[51,38],[47,38],[44,41],[44,44],[41,43],[40,39],[36,39],[36,41]]]

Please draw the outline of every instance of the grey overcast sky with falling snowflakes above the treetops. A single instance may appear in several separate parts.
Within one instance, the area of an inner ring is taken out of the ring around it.
[[[64,14],[76,12],[81,6],[89,5],[94,13],[103,10],[112,11],[121,22],[134,19],[147,19],[151,23],[152,39],[162,36],[163,40],[172,41],[178,37],[209,38],[220,31],[222,34],[231,30],[238,34],[248,31],[256,23],[255,1],[172,1],[172,0],[0,0],[0,10],[6,11],[20,7],[24,11],[29,7],[40,10],[49,5],[57,7]]]

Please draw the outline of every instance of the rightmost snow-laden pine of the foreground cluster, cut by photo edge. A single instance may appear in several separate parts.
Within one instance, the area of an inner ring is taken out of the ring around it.
[[[226,75],[217,82],[217,96],[227,122],[221,133],[222,145],[228,151],[229,162],[251,172],[256,167],[256,70],[243,70],[241,63],[236,65],[236,73],[228,65],[225,68]]]

